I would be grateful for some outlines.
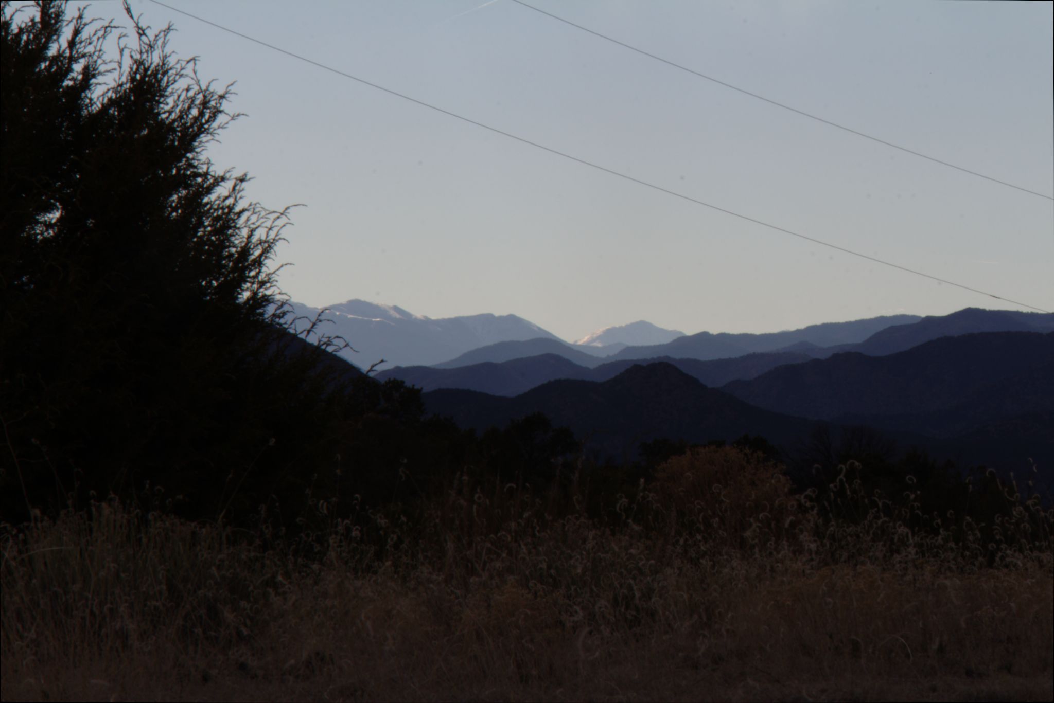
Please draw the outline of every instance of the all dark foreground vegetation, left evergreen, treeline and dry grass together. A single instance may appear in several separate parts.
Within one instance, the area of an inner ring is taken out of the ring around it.
[[[168,32],[0,19],[4,700],[1054,696],[1029,476],[426,416],[304,344]]]

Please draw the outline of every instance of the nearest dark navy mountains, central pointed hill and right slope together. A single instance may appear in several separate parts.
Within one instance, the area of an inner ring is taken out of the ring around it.
[[[550,380],[514,397],[440,389],[423,399],[429,412],[479,430],[541,412],[589,451],[617,458],[636,457],[640,443],[658,437],[748,433],[787,449],[829,422],[877,428],[960,466],[1020,475],[1032,460],[1043,481],[1054,477],[1054,333],[967,334],[877,357],[839,353],[720,389],[661,362],[606,380]]]

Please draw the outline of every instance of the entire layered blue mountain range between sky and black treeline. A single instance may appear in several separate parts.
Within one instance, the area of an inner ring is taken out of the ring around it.
[[[611,345],[570,345],[514,315],[432,320],[354,300],[330,314],[358,332],[380,330],[390,343],[398,333],[428,344],[446,339],[433,344],[432,359],[456,345],[491,340],[431,367],[376,375],[421,387],[428,412],[466,428],[542,412],[590,452],[627,458],[659,437],[700,443],[753,434],[786,449],[828,423],[876,428],[961,466],[1020,470],[1031,458],[1048,481],[1054,475],[1052,314],[965,309],[770,334],[700,333],[607,357],[598,350]],[[528,338],[492,341],[508,334]],[[356,341],[369,349],[363,341],[374,339]],[[655,351],[672,353],[624,358]]]

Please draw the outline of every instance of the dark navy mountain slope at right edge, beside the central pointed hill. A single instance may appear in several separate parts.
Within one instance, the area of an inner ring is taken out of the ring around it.
[[[1054,332],[979,332],[783,366],[722,390],[801,417],[949,434],[1054,411]],[[884,422],[883,418],[891,418]]]

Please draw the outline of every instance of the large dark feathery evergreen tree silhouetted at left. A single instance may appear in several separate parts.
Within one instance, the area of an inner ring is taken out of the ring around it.
[[[284,329],[287,213],[206,156],[230,86],[124,11],[129,34],[58,2],[0,12],[4,520],[89,491],[213,518],[295,497],[348,401],[352,367]]]

